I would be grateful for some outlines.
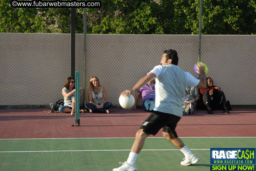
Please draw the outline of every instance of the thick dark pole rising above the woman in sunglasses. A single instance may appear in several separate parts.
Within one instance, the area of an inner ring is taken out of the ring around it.
[[[76,67],[76,9],[71,8],[71,76],[75,77],[75,67]]]

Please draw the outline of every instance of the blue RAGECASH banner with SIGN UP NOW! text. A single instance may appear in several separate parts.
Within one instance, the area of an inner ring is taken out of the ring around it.
[[[255,148],[211,148],[211,170],[256,170]]]

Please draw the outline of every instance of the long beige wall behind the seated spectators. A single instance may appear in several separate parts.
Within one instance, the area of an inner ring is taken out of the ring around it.
[[[198,35],[89,34],[86,42],[85,61],[83,35],[76,34],[80,87],[85,67],[86,92],[95,75],[115,105],[120,92],[160,64],[163,50],[177,50],[180,68],[196,76],[193,65],[198,57]],[[209,67],[207,76],[222,87],[231,104],[256,104],[255,45],[254,35],[202,35],[201,61]],[[63,98],[61,89],[70,76],[70,53],[70,34],[0,33],[0,105],[46,105]]]

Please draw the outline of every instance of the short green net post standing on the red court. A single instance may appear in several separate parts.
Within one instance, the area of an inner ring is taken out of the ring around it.
[[[75,119],[75,127],[80,126],[80,73],[79,71],[76,71],[76,119]]]

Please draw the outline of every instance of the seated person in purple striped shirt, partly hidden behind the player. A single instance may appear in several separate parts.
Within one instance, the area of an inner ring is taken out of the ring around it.
[[[147,111],[151,111],[155,108],[155,80],[148,82],[145,86],[141,87],[139,90],[137,90],[137,93],[135,95],[135,103],[133,108],[130,108],[130,110],[136,110],[137,102],[139,100],[139,97],[142,96],[143,101],[143,108]]]

